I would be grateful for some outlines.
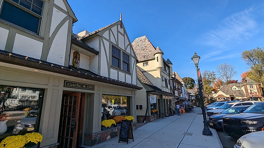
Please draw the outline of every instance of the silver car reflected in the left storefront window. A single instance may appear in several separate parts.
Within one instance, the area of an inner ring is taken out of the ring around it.
[[[14,127],[13,133],[17,134],[22,130],[34,131],[38,114],[39,114],[38,110],[31,110],[27,114],[27,116],[22,116],[23,119],[17,122],[16,126]]]

